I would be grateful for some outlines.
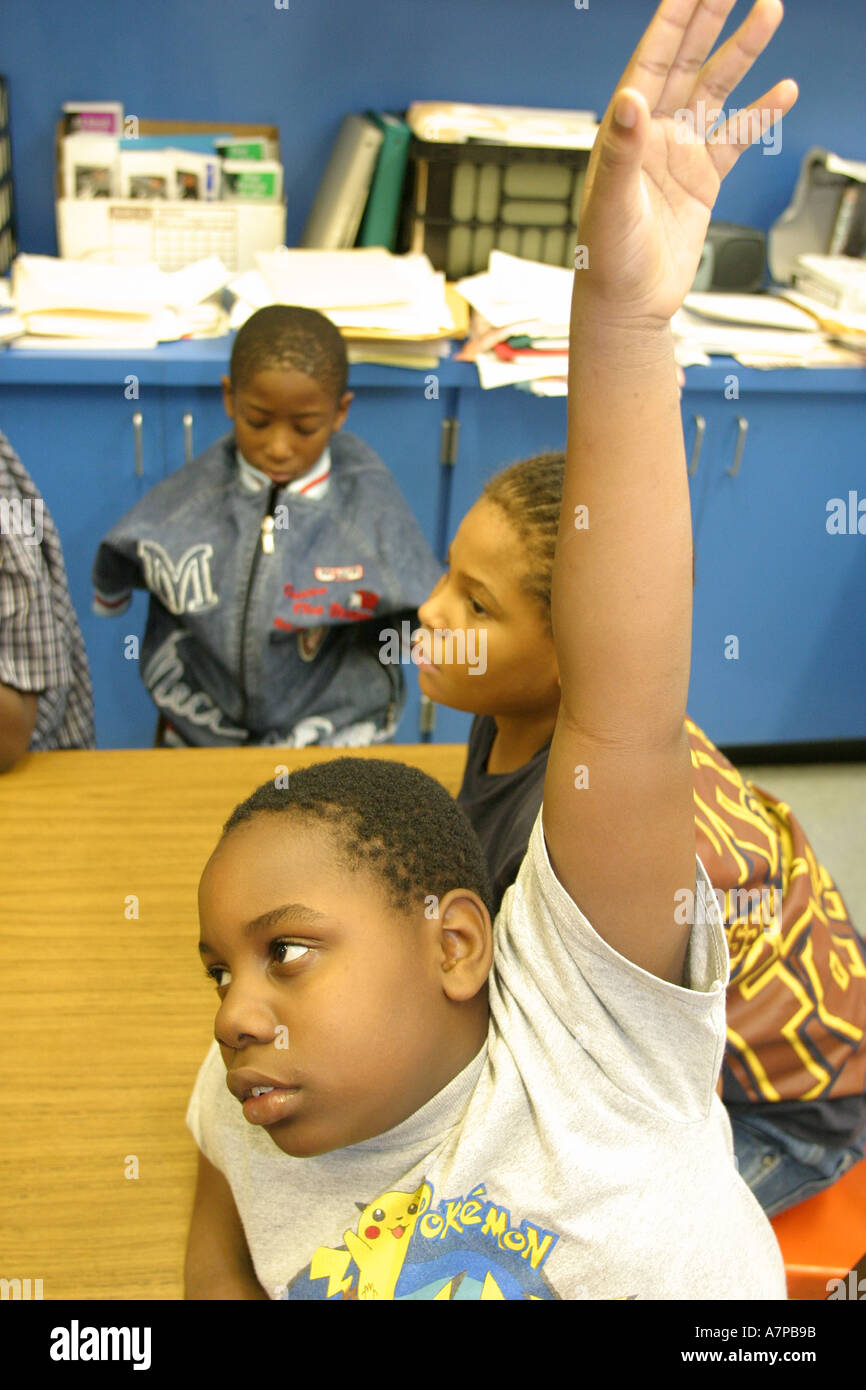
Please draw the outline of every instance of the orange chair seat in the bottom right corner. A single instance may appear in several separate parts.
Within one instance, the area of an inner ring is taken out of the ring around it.
[[[845,1279],[866,1252],[866,1159],[833,1187],[773,1216],[771,1226],[785,1261],[788,1298],[827,1298],[828,1282]],[[856,1297],[866,1298],[866,1286]]]

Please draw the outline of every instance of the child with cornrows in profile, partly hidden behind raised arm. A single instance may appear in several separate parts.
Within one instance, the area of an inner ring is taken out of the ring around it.
[[[489,480],[452,542],[450,573],[418,614],[432,628],[471,620],[487,632],[484,674],[452,663],[420,676],[431,698],[475,712],[457,801],[484,847],[496,908],[542,803],[559,710],[550,581],[564,464],[562,453],[538,455]],[[863,1156],[866,947],[791,808],[745,781],[696,724],[685,727],[696,851],[731,955],[721,1094],[740,1170],[774,1215]],[[575,767],[575,785],[582,776]]]

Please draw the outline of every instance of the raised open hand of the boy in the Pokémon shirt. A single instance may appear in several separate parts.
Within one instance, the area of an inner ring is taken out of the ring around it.
[[[756,0],[706,61],[737,0],[662,0],[620,78],[598,132],[580,211],[588,267],[575,292],[617,321],[667,322],[698,270],[721,179],[742,150],[791,110],[790,78],[705,138],[709,111],[766,49],[781,0]],[[621,124],[626,121],[626,124]],[[762,124],[763,122],[763,124]]]

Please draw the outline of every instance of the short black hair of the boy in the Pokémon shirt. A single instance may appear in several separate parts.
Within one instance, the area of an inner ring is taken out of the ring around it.
[[[450,792],[427,773],[384,758],[335,758],[285,780],[286,787],[263,783],[235,808],[222,834],[259,812],[314,816],[331,828],[341,860],[350,870],[370,870],[398,912],[417,912],[430,895],[470,888],[493,915],[475,831]]]

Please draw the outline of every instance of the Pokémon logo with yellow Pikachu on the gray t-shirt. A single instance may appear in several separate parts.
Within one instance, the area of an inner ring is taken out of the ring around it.
[[[559,1295],[542,1266],[557,1236],[530,1220],[514,1222],[487,1198],[468,1195],[432,1205],[434,1188],[388,1191],[363,1207],[339,1250],[320,1245],[286,1287],[288,1300],[549,1300]]]

